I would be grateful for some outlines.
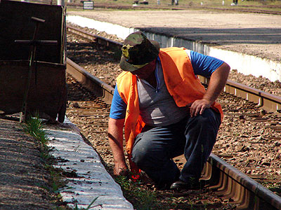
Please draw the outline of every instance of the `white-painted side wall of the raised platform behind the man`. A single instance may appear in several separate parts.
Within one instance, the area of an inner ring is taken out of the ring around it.
[[[66,20],[80,27],[89,27],[98,31],[105,31],[107,34],[115,34],[119,38],[126,38],[134,31],[139,31],[135,28],[126,28],[121,25],[114,25],[108,22],[100,22],[90,18],[84,18],[79,15],[67,15]],[[162,48],[166,47],[185,47],[189,50],[200,52],[204,55],[210,55],[222,59],[231,66],[231,69],[237,69],[239,73],[245,75],[253,75],[256,77],[263,76],[271,81],[281,80],[281,64],[270,59],[263,59],[253,55],[246,55],[239,52],[229,50],[221,50],[211,47],[206,44],[188,41],[183,38],[174,38],[164,36],[162,34],[154,34],[148,31],[143,31],[150,39],[154,39],[161,44]],[[237,62],[239,60],[240,62]]]

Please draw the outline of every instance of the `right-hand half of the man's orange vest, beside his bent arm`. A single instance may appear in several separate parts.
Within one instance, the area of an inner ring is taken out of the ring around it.
[[[195,76],[185,48],[164,48],[159,52],[166,87],[178,106],[186,106],[202,99],[206,90]],[[215,102],[211,109],[221,114],[221,104]]]

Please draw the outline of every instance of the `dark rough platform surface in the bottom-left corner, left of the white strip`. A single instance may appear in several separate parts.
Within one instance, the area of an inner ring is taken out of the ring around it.
[[[0,118],[0,209],[55,209],[36,140],[18,118]]]

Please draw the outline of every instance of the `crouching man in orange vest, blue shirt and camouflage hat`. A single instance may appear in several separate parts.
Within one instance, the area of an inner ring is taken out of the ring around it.
[[[122,47],[108,136],[115,175],[143,170],[162,190],[198,188],[223,119],[216,102],[230,66],[185,48],[159,48],[140,31]],[[210,77],[207,90],[197,75]],[[172,158],[185,155],[180,171]]]

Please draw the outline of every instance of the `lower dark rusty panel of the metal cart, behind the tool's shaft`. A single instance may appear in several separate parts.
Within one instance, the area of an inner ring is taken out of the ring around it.
[[[0,110],[18,113],[27,85],[28,61],[0,61]],[[56,118],[66,101],[65,66],[37,62],[32,71],[27,111],[39,111]]]

